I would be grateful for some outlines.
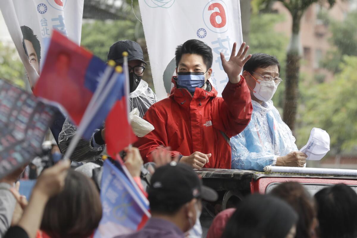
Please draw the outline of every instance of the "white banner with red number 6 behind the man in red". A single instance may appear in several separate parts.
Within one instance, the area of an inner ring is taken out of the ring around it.
[[[243,42],[239,0],[139,0],[155,92],[170,93],[175,75],[175,49],[189,39],[213,50],[211,83],[221,95],[228,82],[220,52],[228,60],[234,42]]]

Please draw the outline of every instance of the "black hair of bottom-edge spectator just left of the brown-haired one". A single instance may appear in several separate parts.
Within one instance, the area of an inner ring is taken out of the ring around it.
[[[222,238],[285,238],[298,216],[280,198],[252,194],[238,205]]]

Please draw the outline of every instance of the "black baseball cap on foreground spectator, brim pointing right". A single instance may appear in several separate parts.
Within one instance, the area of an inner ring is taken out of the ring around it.
[[[214,202],[218,194],[211,188],[202,185],[202,180],[192,167],[171,162],[159,167],[150,181],[148,190],[150,204],[167,204],[181,206],[193,198]]]

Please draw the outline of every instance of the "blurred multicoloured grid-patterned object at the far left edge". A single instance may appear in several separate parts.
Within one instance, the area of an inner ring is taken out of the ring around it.
[[[0,178],[42,152],[55,108],[0,80]]]

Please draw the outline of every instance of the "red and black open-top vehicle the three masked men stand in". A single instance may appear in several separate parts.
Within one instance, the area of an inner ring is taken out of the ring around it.
[[[265,173],[239,169],[202,168],[196,173],[202,178],[203,184],[219,194],[215,203],[203,202],[200,218],[203,237],[206,237],[215,215],[230,207],[235,207],[243,197],[251,193],[269,193],[274,187],[283,182],[301,183],[313,196],[326,186],[345,183],[357,192],[357,177],[332,176],[320,174],[298,173]]]

